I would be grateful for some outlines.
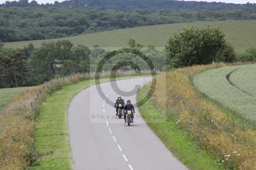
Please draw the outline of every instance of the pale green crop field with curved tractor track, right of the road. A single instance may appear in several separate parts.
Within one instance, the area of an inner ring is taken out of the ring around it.
[[[256,122],[255,73],[256,65],[216,68],[196,75],[193,83],[199,91],[225,108]]]

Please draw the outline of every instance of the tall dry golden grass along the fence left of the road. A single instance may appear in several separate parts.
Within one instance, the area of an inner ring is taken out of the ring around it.
[[[145,71],[136,75],[147,73]],[[117,77],[129,75],[130,73],[120,72]],[[35,123],[44,98],[65,85],[93,77],[95,73],[59,77],[15,96],[9,105],[0,111],[0,170],[22,170],[38,164],[41,153],[34,148],[33,142]],[[101,77],[110,77],[110,72],[102,73]]]

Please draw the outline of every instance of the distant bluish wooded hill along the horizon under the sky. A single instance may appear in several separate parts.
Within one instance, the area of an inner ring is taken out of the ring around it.
[[[51,6],[66,8],[99,8],[99,9],[115,9],[115,10],[133,10],[147,9],[151,11],[159,9],[173,10],[225,10],[225,9],[256,9],[255,3],[233,4],[233,3],[216,3],[216,2],[196,2],[196,1],[178,1],[178,0],[65,0],[61,3],[38,4],[35,0],[31,3],[28,0],[6,1],[0,6]]]

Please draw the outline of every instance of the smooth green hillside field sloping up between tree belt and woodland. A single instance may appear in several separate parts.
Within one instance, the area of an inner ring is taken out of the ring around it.
[[[180,31],[184,27],[191,26],[220,27],[221,30],[223,30],[226,34],[227,40],[232,42],[233,46],[238,52],[243,52],[248,47],[256,47],[256,20],[207,21],[143,26],[59,39],[6,42],[5,47],[23,47],[31,42],[38,47],[42,42],[49,42],[52,40],[70,40],[75,45],[82,44],[88,47],[92,47],[93,45],[99,45],[100,47],[123,47],[130,38],[133,38],[145,46],[154,44],[156,47],[164,47],[169,36],[173,35],[173,33],[177,31]]]

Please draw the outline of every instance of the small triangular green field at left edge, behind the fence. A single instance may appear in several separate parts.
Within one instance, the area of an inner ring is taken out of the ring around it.
[[[15,95],[20,94],[22,91],[26,90],[27,87],[23,88],[2,88],[0,89],[0,111],[9,104]]]

